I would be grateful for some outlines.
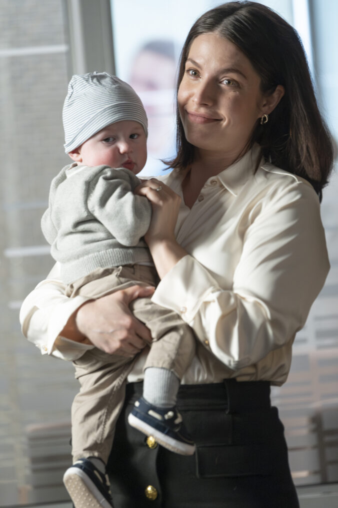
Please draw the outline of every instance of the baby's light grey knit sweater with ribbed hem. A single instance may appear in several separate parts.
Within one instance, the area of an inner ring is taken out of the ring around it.
[[[133,189],[140,180],[127,169],[64,167],[53,179],[41,227],[61,277],[72,282],[96,268],[152,262],[144,236],[152,206]]]

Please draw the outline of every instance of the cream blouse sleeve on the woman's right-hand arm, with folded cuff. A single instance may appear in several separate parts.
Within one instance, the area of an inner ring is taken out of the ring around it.
[[[318,198],[307,183],[286,183],[274,186],[246,217],[243,213],[246,228],[237,238],[240,256],[231,287],[220,287],[189,255],[153,296],[157,304],[177,311],[233,370],[254,365],[293,341],[329,270]],[[212,246],[210,256],[217,256]]]

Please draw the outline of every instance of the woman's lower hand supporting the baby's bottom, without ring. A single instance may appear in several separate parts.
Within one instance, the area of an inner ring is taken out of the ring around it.
[[[154,291],[153,287],[134,285],[90,300],[78,309],[69,328],[105,353],[134,356],[152,337],[148,328],[133,316],[129,304],[136,298],[151,297]]]

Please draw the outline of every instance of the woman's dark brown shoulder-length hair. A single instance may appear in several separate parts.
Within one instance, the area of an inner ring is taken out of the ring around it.
[[[217,32],[247,56],[261,78],[261,90],[285,88],[284,97],[269,115],[257,120],[251,144],[259,143],[267,160],[308,180],[321,200],[333,164],[333,148],[313,89],[303,45],[289,23],[255,2],[229,2],[203,14],[184,43],[177,82],[182,80],[192,42],[201,34]],[[186,167],[194,160],[194,146],[184,135],[177,110],[177,155],[166,164]],[[257,162],[257,164],[259,161]]]

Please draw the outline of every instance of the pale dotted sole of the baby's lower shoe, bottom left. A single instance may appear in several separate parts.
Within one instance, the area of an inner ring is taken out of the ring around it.
[[[82,469],[69,467],[63,483],[75,508],[113,508]]]

